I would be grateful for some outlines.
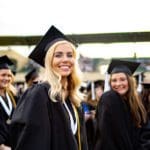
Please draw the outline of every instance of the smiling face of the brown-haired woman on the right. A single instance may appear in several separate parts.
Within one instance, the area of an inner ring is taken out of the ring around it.
[[[125,95],[129,89],[128,79],[124,73],[114,73],[110,79],[111,88],[120,95]]]

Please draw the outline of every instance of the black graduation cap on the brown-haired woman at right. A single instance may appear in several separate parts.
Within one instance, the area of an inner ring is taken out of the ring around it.
[[[108,74],[123,72],[128,75],[133,75],[139,65],[140,63],[138,62],[112,59],[107,72]]]

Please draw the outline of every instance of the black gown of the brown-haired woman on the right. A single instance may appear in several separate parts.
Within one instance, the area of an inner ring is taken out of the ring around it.
[[[140,129],[134,126],[129,107],[119,94],[109,91],[102,95],[96,119],[94,150],[142,150]]]

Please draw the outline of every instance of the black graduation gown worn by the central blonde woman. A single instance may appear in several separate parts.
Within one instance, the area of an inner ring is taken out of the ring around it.
[[[40,83],[29,88],[12,116],[13,150],[78,150],[70,121],[62,102],[52,102],[49,86]],[[82,150],[87,150],[83,113],[78,108]]]

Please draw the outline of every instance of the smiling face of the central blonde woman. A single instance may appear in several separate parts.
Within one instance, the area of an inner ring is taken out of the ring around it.
[[[56,47],[52,61],[54,71],[62,77],[67,77],[72,73],[74,62],[73,50],[68,43],[60,44]]]

